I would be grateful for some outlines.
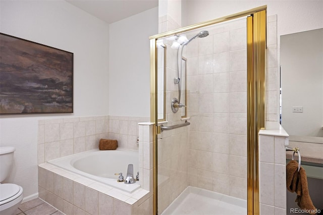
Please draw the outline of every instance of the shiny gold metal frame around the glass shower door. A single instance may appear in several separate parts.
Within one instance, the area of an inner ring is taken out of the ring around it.
[[[258,132],[265,124],[266,9],[254,8],[184,28],[160,33],[150,39],[150,121],[153,129],[153,214],[157,214],[157,69],[156,40],[208,25],[247,17],[247,211],[259,214]]]

